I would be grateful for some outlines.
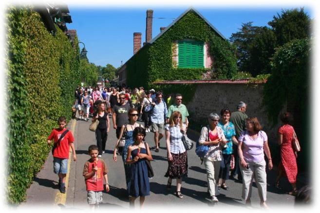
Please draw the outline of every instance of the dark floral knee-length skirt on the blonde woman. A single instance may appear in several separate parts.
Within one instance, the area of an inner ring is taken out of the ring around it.
[[[188,176],[188,156],[187,151],[180,154],[173,154],[172,161],[168,161],[168,170],[165,177],[172,179],[180,179],[183,176]]]

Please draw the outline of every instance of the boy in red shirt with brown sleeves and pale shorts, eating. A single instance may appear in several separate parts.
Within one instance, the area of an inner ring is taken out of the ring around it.
[[[91,145],[88,148],[91,158],[84,164],[83,173],[86,187],[88,204],[91,209],[99,206],[102,202],[103,178],[106,181],[106,189],[109,192],[108,167],[101,158],[98,158],[98,147]]]

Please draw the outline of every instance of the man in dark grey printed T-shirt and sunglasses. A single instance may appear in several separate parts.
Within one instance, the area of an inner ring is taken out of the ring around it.
[[[119,139],[122,125],[129,124],[128,111],[131,109],[129,103],[125,102],[125,94],[119,94],[120,102],[113,106],[113,129],[115,129],[116,137]],[[121,153],[123,147],[119,147]]]

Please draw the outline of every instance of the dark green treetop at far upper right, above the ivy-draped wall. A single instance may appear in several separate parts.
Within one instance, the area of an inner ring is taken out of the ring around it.
[[[293,40],[310,37],[311,20],[303,8],[282,10],[268,22],[277,37],[278,46]]]

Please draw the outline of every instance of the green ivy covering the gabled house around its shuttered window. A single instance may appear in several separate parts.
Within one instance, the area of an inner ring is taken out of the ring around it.
[[[128,86],[145,86],[151,89],[152,82],[157,81],[200,80],[208,69],[175,68],[172,64],[172,44],[184,39],[208,43],[209,53],[213,56],[213,65],[209,68],[213,71],[213,78],[232,78],[237,73],[236,48],[212,30],[204,19],[190,11],[127,62]]]

